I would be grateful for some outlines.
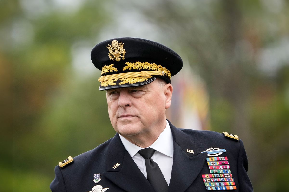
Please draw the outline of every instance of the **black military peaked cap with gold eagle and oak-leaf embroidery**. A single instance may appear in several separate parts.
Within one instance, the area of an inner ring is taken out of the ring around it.
[[[138,38],[116,38],[97,44],[91,60],[101,70],[99,90],[136,87],[151,83],[156,77],[167,83],[182,66],[181,57],[170,48]]]

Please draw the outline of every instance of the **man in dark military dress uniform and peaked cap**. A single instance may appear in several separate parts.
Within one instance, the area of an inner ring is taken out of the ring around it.
[[[178,129],[166,119],[171,76],[183,65],[178,54],[153,41],[118,38],[96,45],[91,59],[116,135],[59,162],[51,191],[253,191],[238,136]]]

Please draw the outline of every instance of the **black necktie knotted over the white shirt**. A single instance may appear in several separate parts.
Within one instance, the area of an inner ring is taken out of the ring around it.
[[[156,192],[167,192],[168,183],[166,182],[158,164],[151,159],[155,150],[152,148],[145,148],[138,151],[138,153],[145,159],[147,180],[149,180],[149,183],[153,186]]]

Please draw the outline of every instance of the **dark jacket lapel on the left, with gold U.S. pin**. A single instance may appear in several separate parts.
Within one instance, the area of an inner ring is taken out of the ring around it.
[[[119,166],[115,167],[117,163]],[[118,134],[112,138],[108,146],[107,164],[107,172],[103,172],[103,175],[121,189],[128,192],[154,191],[126,151]]]

